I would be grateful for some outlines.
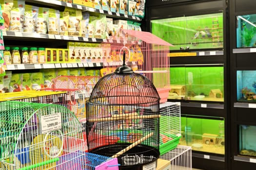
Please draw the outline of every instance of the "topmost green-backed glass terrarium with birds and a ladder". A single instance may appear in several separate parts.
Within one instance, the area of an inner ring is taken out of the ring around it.
[[[222,13],[151,20],[151,28],[170,50],[223,48]]]

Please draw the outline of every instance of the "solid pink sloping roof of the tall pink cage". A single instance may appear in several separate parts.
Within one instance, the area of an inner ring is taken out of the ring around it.
[[[165,45],[165,46],[174,46],[163,39],[159,38],[158,36],[144,31],[135,31],[135,30],[122,30],[125,34],[127,33],[128,36],[134,36],[137,39],[140,39],[149,44],[158,44],[158,45]]]

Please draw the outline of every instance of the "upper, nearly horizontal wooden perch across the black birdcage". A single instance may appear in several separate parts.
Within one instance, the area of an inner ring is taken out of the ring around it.
[[[116,116],[116,117],[107,117],[107,118],[94,118],[94,119],[87,119],[88,122],[95,122],[95,121],[114,121],[114,120],[127,120],[127,119],[155,119],[160,118],[160,115],[138,115],[138,116]]]

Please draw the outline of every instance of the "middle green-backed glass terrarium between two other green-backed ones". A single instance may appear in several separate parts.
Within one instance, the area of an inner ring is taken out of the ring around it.
[[[171,67],[168,99],[224,101],[223,66]]]

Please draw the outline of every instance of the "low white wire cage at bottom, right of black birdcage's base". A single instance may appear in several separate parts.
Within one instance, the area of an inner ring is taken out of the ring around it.
[[[177,145],[177,148],[161,155],[160,159],[171,161],[171,170],[192,170],[192,148]]]

